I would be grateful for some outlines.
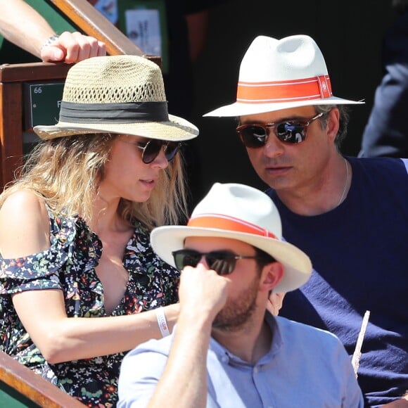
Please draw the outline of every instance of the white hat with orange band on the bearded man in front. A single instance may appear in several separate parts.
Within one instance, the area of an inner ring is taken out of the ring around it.
[[[299,288],[312,273],[309,257],[283,241],[281,217],[273,201],[250,186],[215,183],[193,210],[186,227],[153,229],[151,246],[165,262],[175,266],[172,252],[184,248],[188,236],[238,239],[269,253],[285,270],[274,289],[277,292]]]

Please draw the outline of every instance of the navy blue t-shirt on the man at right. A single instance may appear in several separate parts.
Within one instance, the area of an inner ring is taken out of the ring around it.
[[[280,314],[331,331],[352,355],[369,310],[358,381],[375,407],[408,390],[408,160],[348,160],[348,196],[324,214],[294,214],[267,191],[284,238],[314,266],[310,281],[286,295]]]

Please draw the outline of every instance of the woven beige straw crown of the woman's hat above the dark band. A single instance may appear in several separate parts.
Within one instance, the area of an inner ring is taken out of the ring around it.
[[[160,68],[144,57],[103,56],[83,60],[68,71],[63,101],[129,103],[166,101]]]

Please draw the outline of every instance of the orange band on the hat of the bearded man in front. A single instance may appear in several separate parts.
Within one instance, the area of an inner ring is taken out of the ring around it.
[[[225,229],[231,232],[243,232],[277,239],[276,236],[267,229],[260,228],[242,219],[220,214],[203,214],[191,217],[187,223],[187,227]]]

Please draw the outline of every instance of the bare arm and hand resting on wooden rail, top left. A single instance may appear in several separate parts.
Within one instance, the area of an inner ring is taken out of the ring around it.
[[[42,49],[56,32],[41,14],[23,0],[0,0],[0,9],[0,34],[44,61],[76,63],[106,54],[103,42],[79,32],[63,32],[56,42]]]

